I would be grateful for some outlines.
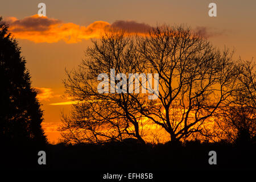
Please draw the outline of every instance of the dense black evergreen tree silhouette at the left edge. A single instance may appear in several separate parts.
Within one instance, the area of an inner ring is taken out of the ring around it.
[[[0,140],[46,143],[42,110],[31,88],[26,60],[0,17]]]

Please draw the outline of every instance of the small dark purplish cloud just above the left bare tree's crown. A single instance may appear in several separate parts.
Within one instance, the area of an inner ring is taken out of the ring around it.
[[[146,23],[137,23],[135,21],[128,21],[128,20],[117,20],[110,25],[113,28],[121,28],[126,30],[127,32],[138,32],[138,33],[145,33],[152,28],[150,25]]]

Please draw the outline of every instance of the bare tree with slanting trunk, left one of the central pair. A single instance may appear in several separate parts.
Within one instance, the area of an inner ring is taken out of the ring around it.
[[[111,84],[110,89],[104,88],[104,93],[98,92],[100,74],[106,73],[116,78],[117,73],[140,73],[143,70],[143,60],[138,56],[134,38],[124,31],[112,30],[99,41],[92,42],[93,47],[85,52],[86,58],[79,69],[67,72],[68,78],[64,81],[66,94],[77,104],[73,105],[71,117],[63,115],[60,129],[63,137],[73,142],[92,143],[132,137],[144,143],[142,114],[134,110],[137,107],[134,98],[142,100],[145,96],[139,93],[115,93]],[[104,82],[108,84],[105,79]],[[117,79],[114,84],[118,84]],[[122,85],[121,89],[127,89],[125,87]]]

